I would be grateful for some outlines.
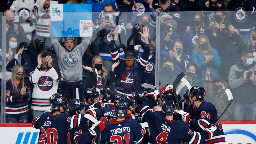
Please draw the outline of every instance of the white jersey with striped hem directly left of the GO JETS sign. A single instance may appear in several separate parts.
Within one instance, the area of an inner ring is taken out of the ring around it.
[[[43,4],[45,0],[37,0],[34,4],[34,12],[38,20],[36,22],[36,35],[43,37],[50,37],[49,32],[49,20],[50,20],[50,9],[44,9]],[[58,1],[50,0],[50,4],[58,4]]]

